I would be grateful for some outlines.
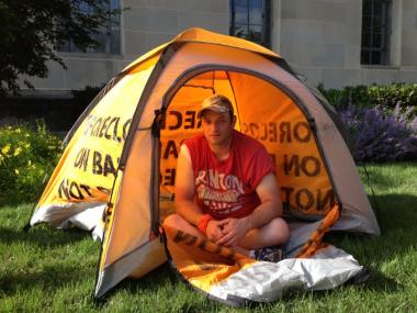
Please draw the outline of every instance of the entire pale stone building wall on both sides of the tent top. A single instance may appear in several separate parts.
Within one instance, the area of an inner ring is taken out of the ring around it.
[[[227,0],[124,0],[121,54],[61,53],[64,70],[50,63],[49,77],[34,79],[41,91],[100,86],[143,53],[200,26],[228,34]],[[393,0],[391,65],[362,66],[362,0],[273,0],[272,49],[307,83],[327,88],[417,81],[417,1]]]

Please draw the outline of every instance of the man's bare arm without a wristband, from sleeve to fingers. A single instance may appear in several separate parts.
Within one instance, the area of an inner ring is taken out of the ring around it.
[[[259,228],[282,214],[280,191],[273,174],[268,174],[259,182],[256,192],[261,203],[253,212],[243,219],[226,219],[219,222],[223,227],[223,236],[217,244],[235,246],[246,234],[253,228]]]

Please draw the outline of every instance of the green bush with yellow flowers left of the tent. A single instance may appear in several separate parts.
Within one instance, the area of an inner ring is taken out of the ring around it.
[[[0,127],[0,205],[37,200],[61,155],[60,144],[40,121]]]

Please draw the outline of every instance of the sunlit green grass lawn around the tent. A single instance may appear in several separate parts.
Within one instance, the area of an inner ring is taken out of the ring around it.
[[[327,238],[371,270],[362,286],[297,291],[237,310],[189,290],[165,265],[140,280],[125,279],[95,303],[100,244],[78,230],[22,232],[32,210],[25,204],[0,208],[0,312],[417,312],[417,163],[367,168],[370,180],[360,172],[369,194],[373,186],[382,236]]]

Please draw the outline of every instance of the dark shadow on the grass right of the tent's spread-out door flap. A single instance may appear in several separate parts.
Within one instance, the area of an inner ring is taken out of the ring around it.
[[[363,234],[330,233],[324,239],[353,255],[370,270],[363,288],[374,291],[395,292],[402,288],[396,280],[380,269],[390,261],[409,255],[417,249],[415,221],[417,221],[417,197],[409,194],[376,195],[381,236]]]

